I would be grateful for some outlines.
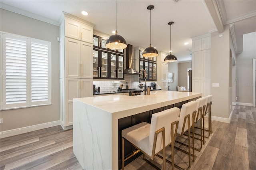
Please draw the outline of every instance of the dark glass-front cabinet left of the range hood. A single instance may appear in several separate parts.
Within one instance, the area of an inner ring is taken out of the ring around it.
[[[122,52],[101,47],[101,45],[105,46],[105,43],[104,39],[94,36],[94,79],[124,79],[124,55],[121,54]]]

